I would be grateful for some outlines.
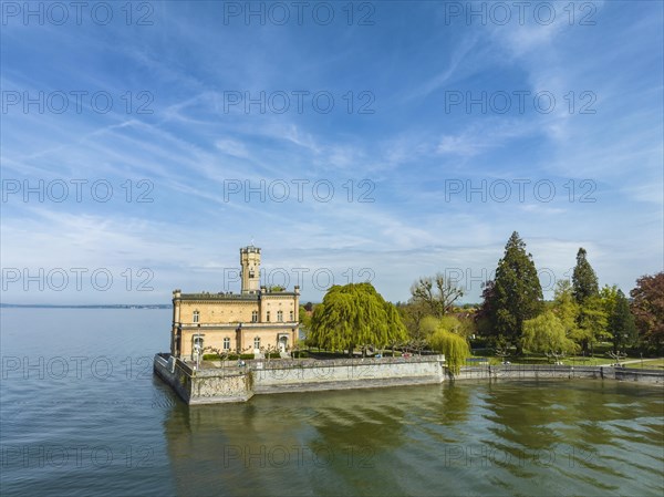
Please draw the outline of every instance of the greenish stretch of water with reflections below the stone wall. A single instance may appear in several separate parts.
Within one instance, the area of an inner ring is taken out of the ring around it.
[[[178,403],[164,427],[180,495],[658,495],[660,396],[459,382]]]

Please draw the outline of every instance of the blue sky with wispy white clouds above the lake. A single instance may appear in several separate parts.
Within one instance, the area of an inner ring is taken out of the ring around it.
[[[2,4],[3,302],[663,269],[662,2],[100,3]]]

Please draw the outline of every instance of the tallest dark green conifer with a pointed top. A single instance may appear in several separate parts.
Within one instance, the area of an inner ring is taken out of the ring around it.
[[[521,353],[523,322],[542,310],[542,287],[537,276],[532,256],[517,231],[505,246],[505,256],[498,261],[491,291],[494,302],[490,323],[494,335],[504,336]]]

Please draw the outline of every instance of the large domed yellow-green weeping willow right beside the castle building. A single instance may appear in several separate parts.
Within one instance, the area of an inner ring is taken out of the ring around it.
[[[371,283],[330,288],[311,319],[311,343],[328,350],[363,345],[381,349],[406,340],[406,327],[396,308],[386,302]]]

